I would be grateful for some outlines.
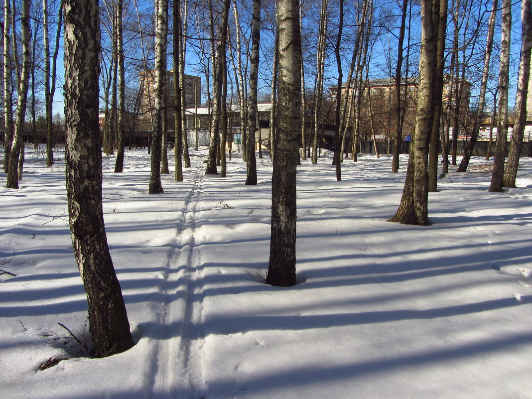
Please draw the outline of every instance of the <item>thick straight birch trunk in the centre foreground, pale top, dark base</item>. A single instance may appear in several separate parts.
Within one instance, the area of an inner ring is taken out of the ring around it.
[[[296,284],[296,165],[301,127],[298,0],[278,1],[279,123],[273,158],[270,260],[266,283]]]

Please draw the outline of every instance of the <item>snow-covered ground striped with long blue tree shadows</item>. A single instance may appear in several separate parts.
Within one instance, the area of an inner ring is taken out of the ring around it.
[[[520,188],[488,193],[472,160],[429,196],[430,227],[386,220],[406,158],[343,164],[330,154],[298,168],[300,284],[263,284],[271,167],[244,186],[245,164],[185,182],[163,175],[148,195],[145,151],[124,173],[104,157],[107,238],[136,345],[75,358],[87,305],[71,251],[64,160],[29,152],[21,188],[0,188],[0,397],[532,398],[532,160]],[[173,162],[173,160],[170,160]],[[5,175],[0,173],[5,181]],[[2,184],[4,186],[5,183]],[[85,331],[85,332],[84,332]]]

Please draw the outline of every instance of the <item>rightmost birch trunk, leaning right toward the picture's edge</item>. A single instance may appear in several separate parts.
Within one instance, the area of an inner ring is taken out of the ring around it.
[[[530,79],[530,50],[532,49],[532,9],[531,0],[521,2],[521,57],[519,61],[519,80],[516,98],[516,122],[513,125],[510,152],[506,170],[504,171],[503,186],[516,187],[517,168],[525,124],[527,120],[527,96]]]

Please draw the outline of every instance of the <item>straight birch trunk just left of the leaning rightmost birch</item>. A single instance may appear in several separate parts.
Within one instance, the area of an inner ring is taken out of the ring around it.
[[[502,192],[504,176],[504,159],[506,157],[506,140],[508,139],[508,84],[510,70],[510,41],[512,31],[512,2],[502,1],[501,59],[498,80],[498,118],[497,139],[495,142],[495,159],[493,161],[492,181],[489,192]]]

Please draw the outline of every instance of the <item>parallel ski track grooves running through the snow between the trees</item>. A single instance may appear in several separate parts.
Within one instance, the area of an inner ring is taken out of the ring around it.
[[[201,163],[194,168],[194,185],[177,226],[178,244],[169,254],[161,321],[164,332],[155,359],[152,399],[201,399],[205,392],[201,359],[203,271],[195,237],[204,176]]]

